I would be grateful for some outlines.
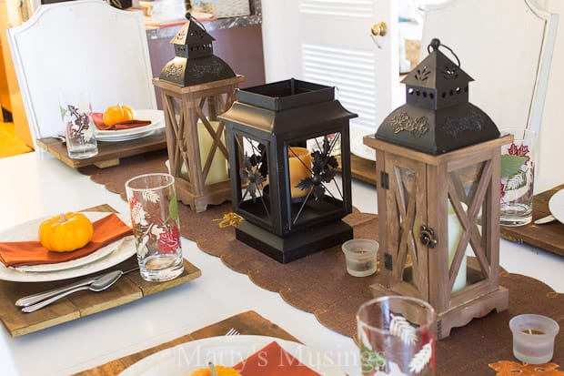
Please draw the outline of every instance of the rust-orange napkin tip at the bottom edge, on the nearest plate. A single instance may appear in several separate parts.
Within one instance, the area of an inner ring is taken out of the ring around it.
[[[233,366],[243,376],[320,376],[289,352],[276,340]]]

